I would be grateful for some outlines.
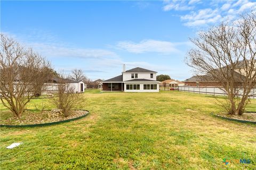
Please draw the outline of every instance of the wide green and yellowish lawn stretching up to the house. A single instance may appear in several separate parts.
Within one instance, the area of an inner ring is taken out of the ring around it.
[[[84,93],[90,115],[41,128],[1,128],[1,169],[255,169],[256,126],[211,116],[211,96],[179,91]],[[41,105],[34,99],[28,108]],[[50,105],[47,108],[52,108]],[[1,105],[1,112],[5,108]],[[256,111],[256,100],[247,107]],[[5,149],[13,142],[24,142]],[[251,164],[222,163],[250,159]]]

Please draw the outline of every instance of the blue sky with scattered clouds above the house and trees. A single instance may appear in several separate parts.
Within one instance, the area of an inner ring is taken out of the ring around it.
[[[67,74],[106,80],[126,64],[185,80],[189,37],[247,11],[255,1],[1,1],[1,32]]]

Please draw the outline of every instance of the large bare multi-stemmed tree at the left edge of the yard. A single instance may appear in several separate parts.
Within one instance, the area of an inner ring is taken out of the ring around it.
[[[26,104],[50,79],[51,65],[31,48],[24,48],[3,34],[0,50],[0,94],[3,105],[20,117]]]

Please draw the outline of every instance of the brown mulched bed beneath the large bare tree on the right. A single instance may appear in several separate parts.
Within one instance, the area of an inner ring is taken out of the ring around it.
[[[239,120],[239,121],[256,122],[256,112],[245,112],[243,113],[242,116],[229,115],[229,114],[217,114],[217,116],[231,118],[233,120]]]

